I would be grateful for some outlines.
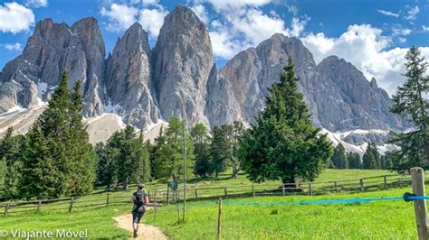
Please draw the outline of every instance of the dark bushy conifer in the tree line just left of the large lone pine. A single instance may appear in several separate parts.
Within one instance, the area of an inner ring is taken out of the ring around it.
[[[212,131],[212,143],[210,143],[210,170],[219,173],[225,171],[233,157],[233,132],[232,125],[215,126]]]

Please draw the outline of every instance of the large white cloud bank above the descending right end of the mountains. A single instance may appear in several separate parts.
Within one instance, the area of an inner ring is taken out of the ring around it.
[[[350,25],[348,31],[338,38],[329,38],[319,32],[310,33],[302,42],[313,53],[316,62],[329,55],[337,55],[350,61],[367,79],[377,78],[378,85],[393,94],[396,87],[404,82],[401,73],[405,72],[407,49],[389,50],[392,39],[382,33],[371,25]],[[426,59],[429,58],[429,47],[423,47],[421,51]]]

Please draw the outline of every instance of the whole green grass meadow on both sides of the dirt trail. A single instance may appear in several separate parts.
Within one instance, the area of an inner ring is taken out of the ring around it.
[[[358,179],[391,174],[389,171],[327,170],[319,181]],[[190,180],[190,185],[203,187],[228,187],[250,185],[245,176],[230,179],[229,173],[217,180]],[[280,183],[280,182],[279,182]],[[268,183],[263,183],[268,184]],[[165,186],[163,182],[147,184],[147,189]],[[88,229],[90,238],[128,238],[129,232],[120,229],[112,217],[129,212],[129,191],[110,193],[110,199],[123,201],[119,205],[103,207],[105,194],[101,189],[91,196],[76,202],[76,209],[68,213],[68,202],[42,206],[40,213],[19,213],[11,208],[7,216],[0,216],[0,230],[56,230],[82,231]],[[270,202],[291,202],[339,198],[398,197],[411,186],[402,189],[387,189],[372,192],[308,196],[257,196],[247,198],[224,198],[222,217],[223,239],[415,239],[415,214],[413,203],[404,200],[377,201],[353,204],[329,205],[284,205]],[[86,202],[100,201],[100,208],[85,209]],[[234,205],[234,203],[256,202],[258,206]],[[1,204],[0,204],[1,205]],[[81,205],[81,208],[79,206]],[[28,207],[35,208],[35,206]],[[180,205],[181,213],[182,205]],[[4,209],[0,207],[0,209]],[[2,211],[3,212],[3,211]],[[188,201],[186,222],[177,222],[176,205],[149,210],[143,223],[159,226],[171,239],[215,239],[218,206],[215,199]]]

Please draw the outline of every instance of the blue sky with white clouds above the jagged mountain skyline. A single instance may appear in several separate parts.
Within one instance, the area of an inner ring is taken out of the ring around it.
[[[1,0],[0,69],[18,56],[35,23],[50,17],[71,24],[99,20],[107,53],[138,21],[153,46],[163,17],[187,5],[206,23],[221,67],[238,51],[274,32],[300,37],[316,62],[335,54],[393,93],[412,45],[429,58],[429,0]]]

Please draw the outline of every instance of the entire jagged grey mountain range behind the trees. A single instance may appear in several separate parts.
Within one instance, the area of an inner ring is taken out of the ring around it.
[[[316,64],[295,37],[276,33],[218,69],[205,23],[177,5],[167,14],[153,48],[148,32],[134,23],[107,58],[95,18],[71,26],[49,18],[37,23],[23,53],[0,72],[0,132],[17,125],[11,120],[15,110],[43,107],[62,71],[68,74],[70,88],[81,79],[88,121],[112,113],[125,124],[149,129],[184,114],[189,125],[234,120],[252,124],[289,57],[314,125],[329,133],[348,133],[337,140],[382,144],[389,130],[409,127],[389,112],[390,97],[375,78],[368,81],[336,56]]]

